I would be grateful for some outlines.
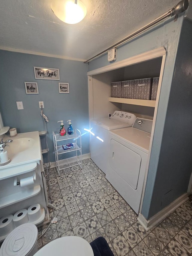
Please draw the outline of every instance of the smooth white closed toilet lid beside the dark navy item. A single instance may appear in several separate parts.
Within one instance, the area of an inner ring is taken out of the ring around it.
[[[94,256],[91,245],[79,236],[64,236],[41,248],[34,256]]]

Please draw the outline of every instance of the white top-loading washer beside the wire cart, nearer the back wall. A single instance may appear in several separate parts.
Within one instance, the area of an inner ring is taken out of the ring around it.
[[[108,118],[92,120],[90,133],[90,152],[91,159],[104,172],[107,172],[109,155],[109,131],[132,126],[136,116],[132,113],[116,110]]]

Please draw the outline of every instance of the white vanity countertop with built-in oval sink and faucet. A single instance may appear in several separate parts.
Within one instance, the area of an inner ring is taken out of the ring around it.
[[[17,134],[15,137],[6,135],[3,140],[13,140],[6,143],[4,149],[10,158],[10,163],[0,167],[1,169],[17,166],[20,164],[28,164],[41,160],[41,147],[39,132],[26,132]]]

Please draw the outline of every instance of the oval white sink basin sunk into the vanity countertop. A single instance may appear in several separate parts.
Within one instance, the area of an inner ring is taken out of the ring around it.
[[[10,152],[12,154],[16,154],[18,152],[29,149],[34,145],[34,142],[35,141],[32,138],[19,138],[13,140],[13,142],[11,142],[10,144],[6,144],[5,149],[7,149],[8,153]]]

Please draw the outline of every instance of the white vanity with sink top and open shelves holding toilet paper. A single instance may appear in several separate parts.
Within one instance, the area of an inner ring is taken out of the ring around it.
[[[39,132],[6,135],[3,141],[10,139],[13,142],[4,148],[10,163],[0,167],[0,219],[38,203],[41,216],[30,222],[41,225],[48,215],[48,202]],[[0,232],[0,241],[5,237]]]

